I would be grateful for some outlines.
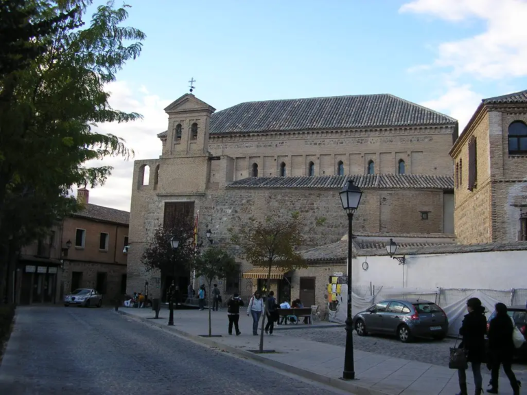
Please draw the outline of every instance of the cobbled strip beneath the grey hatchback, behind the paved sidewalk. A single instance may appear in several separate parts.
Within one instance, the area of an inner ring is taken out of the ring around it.
[[[344,346],[346,344],[346,331],[344,328],[329,329],[298,329],[283,331],[284,335],[298,336],[305,339]],[[401,343],[395,337],[368,335],[358,336],[353,332],[353,348],[375,354],[389,355],[390,357],[410,359],[434,365],[448,366],[449,348],[453,347],[455,339],[444,339],[443,341],[430,339],[417,339],[412,343]],[[513,369],[517,372],[527,371],[525,363],[515,364]]]

